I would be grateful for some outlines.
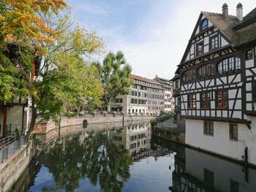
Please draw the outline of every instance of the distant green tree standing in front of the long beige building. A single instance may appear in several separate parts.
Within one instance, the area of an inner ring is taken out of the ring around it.
[[[116,55],[108,53],[102,66],[95,63],[94,66],[98,67],[101,74],[100,80],[104,89],[103,99],[109,112],[110,101],[113,101],[118,95],[129,94],[130,86],[133,84],[130,77],[132,67],[127,64],[124,53],[121,51],[118,51]]]

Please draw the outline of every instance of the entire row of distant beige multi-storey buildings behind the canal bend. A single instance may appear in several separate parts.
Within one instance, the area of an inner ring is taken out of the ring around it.
[[[170,80],[154,80],[132,74],[134,85],[129,95],[120,95],[110,103],[110,110],[124,114],[159,115],[161,111],[174,111],[173,88]]]

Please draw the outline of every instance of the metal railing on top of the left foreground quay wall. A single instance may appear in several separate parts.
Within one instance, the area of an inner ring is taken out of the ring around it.
[[[0,163],[15,153],[20,146],[24,145],[29,139],[29,134],[10,134],[3,139],[0,139]]]

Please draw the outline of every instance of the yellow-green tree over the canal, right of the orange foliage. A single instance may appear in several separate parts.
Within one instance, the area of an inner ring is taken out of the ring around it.
[[[94,32],[79,26],[74,28],[67,15],[56,23],[52,27],[58,39],[48,45],[48,53],[34,82],[37,92],[31,96],[31,127],[38,116],[59,122],[59,115],[70,108],[92,109],[101,104],[99,74],[95,66],[88,64],[88,58],[101,53],[102,40]]]

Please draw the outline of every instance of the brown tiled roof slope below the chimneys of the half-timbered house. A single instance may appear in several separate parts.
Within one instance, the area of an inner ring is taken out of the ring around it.
[[[233,15],[227,15],[226,17],[221,13],[215,12],[202,12],[203,15],[214,23],[214,26],[219,28],[223,34],[232,42],[233,45],[238,43],[237,31],[233,29],[234,26],[240,24],[241,22]]]

